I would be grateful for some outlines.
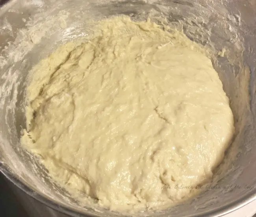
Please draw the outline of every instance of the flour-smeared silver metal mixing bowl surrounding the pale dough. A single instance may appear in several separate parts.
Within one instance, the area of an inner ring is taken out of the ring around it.
[[[52,182],[37,158],[20,147],[26,127],[29,70],[59,44],[86,37],[92,23],[111,15],[165,17],[212,49],[213,66],[230,98],[236,135],[211,188],[162,211],[138,216],[221,216],[256,198],[255,0],[13,0],[0,9],[0,170],[28,195],[72,216],[121,216],[85,206]],[[156,19],[157,20],[157,19]],[[226,54],[225,55],[225,51]],[[224,54],[224,55],[223,55]],[[250,97],[249,97],[250,95]],[[217,187],[213,187],[213,185]],[[232,185],[232,186],[231,186]],[[228,187],[230,186],[230,187]],[[254,188],[253,188],[254,187]]]

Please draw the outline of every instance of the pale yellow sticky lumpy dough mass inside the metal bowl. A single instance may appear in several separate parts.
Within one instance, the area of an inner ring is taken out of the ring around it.
[[[67,189],[114,210],[189,197],[212,177],[234,131],[210,59],[150,21],[117,17],[98,29],[37,67],[22,144]]]

